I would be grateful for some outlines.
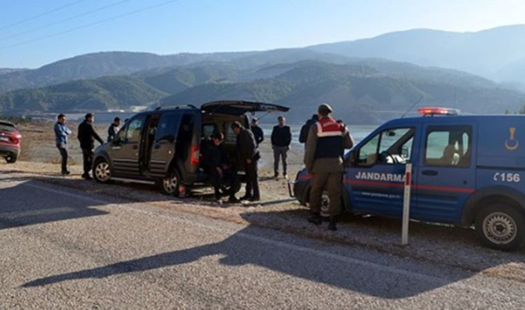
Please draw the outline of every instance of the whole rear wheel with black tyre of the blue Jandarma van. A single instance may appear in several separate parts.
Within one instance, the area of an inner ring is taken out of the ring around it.
[[[484,245],[511,251],[522,245],[525,218],[515,207],[495,203],[478,212],[475,227],[477,236]]]

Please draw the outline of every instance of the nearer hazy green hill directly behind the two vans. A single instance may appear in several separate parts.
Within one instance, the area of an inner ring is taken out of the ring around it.
[[[379,123],[399,117],[420,99],[423,105],[455,106],[477,113],[517,111],[525,104],[525,94],[504,90],[477,76],[388,61],[352,65],[303,61],[264,70],[281,73],[248,82],[197,85],[162,99],[160,104],[231,98],[276,102],[292,107],[294,113],[288,117],[298,122],[326,101],[338,117],[350,123]]]

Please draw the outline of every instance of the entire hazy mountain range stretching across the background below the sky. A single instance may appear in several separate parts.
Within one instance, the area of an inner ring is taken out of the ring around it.
[[[516,112],[525,104],[525,94],[511,90],[525,85],[523,34],[525,26],[517,25],[475,33],[408,30],[263,52],[85,54],[36,70],[0,69],[0,111],[249,99],[290,105],[292,117],[303,118],[327,101],[366,123],[398,116],[421,99],[466,112]]]

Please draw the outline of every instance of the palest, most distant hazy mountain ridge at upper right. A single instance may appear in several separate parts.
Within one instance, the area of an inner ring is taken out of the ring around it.
[[[318,52],[453,68],[495,81],[525,79],[525,25],[479,32],[417,29],[310,46]]]

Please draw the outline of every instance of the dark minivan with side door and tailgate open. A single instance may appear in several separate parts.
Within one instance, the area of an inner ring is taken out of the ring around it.
[[[213,101],[200,108],[176,105],[141,112],[122,126],[114,141],[95,149],[93,177],[100,183],[156,183],[164,193],[174,195],[182,185],[210,185],[209,176],[200,167],[202,141],[214,133],[224,134],[225,151],[236,165],[236,135],[231,123],[238,121],[249,127],[255,112],[288,110],[271,103]],[[242,174],[244,167],[236,167]]]

